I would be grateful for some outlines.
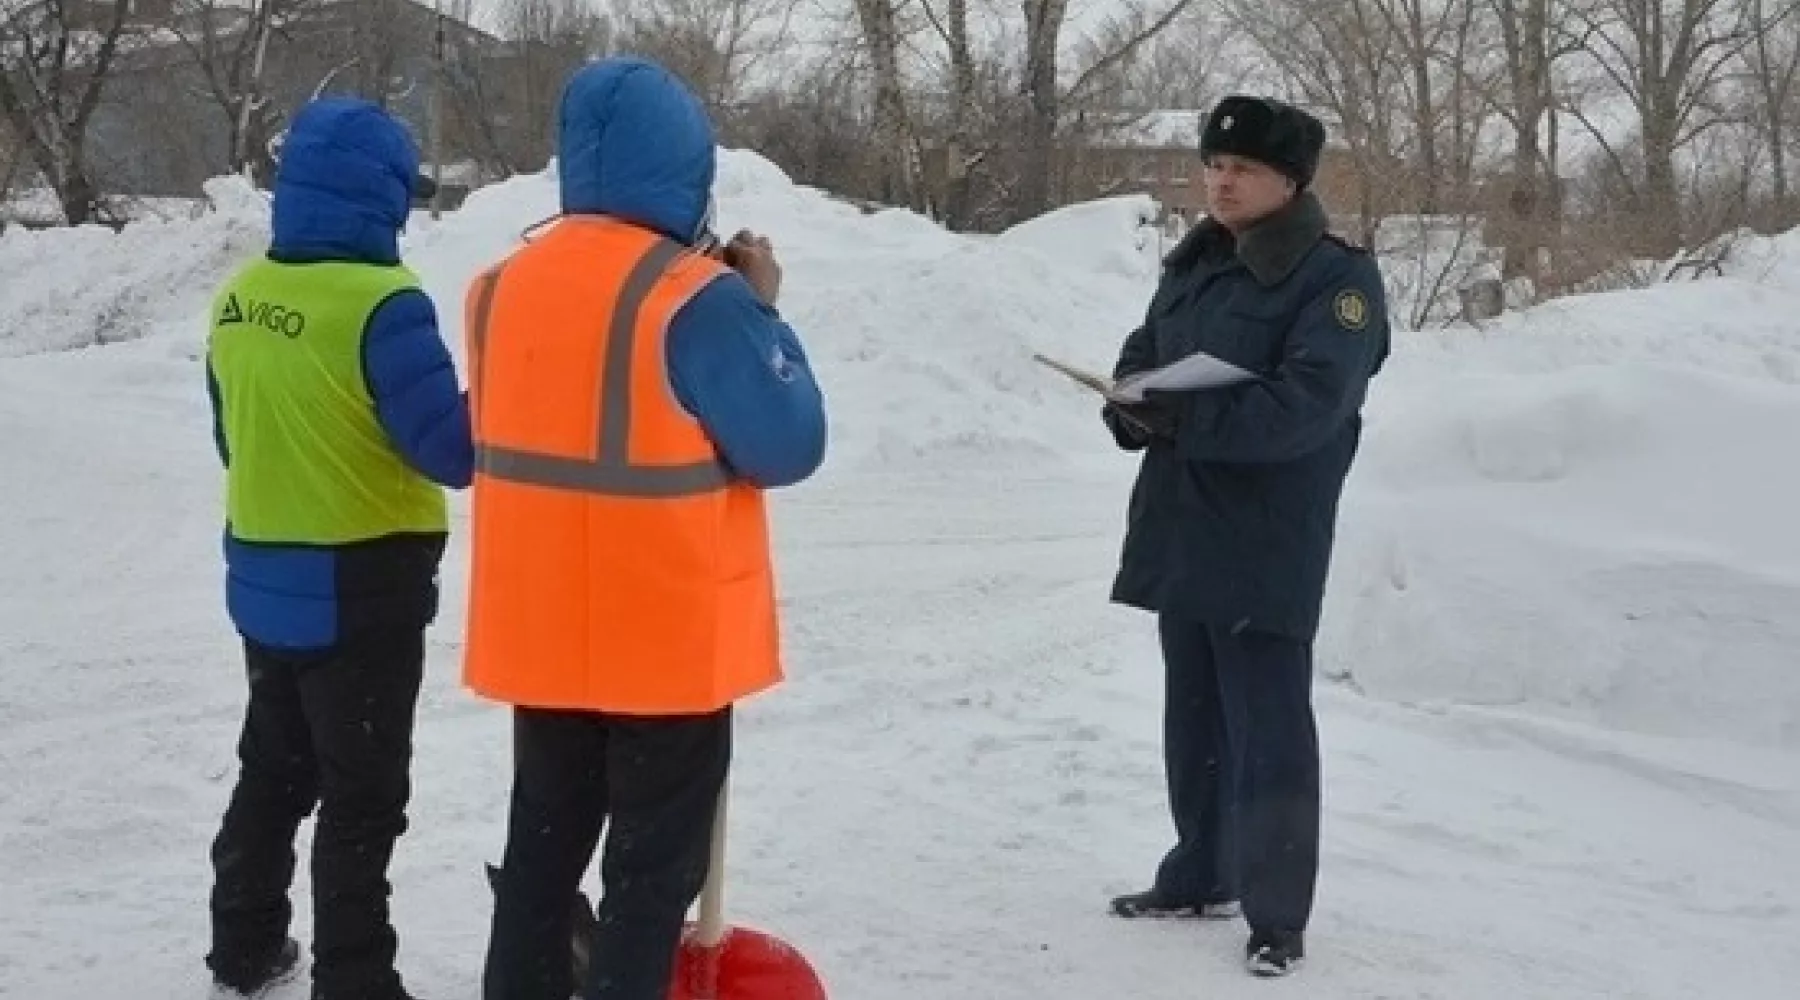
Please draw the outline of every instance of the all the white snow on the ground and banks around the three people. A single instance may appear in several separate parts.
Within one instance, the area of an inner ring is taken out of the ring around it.
[[[5,996],[203,995],[243,685],[198,353],[261,232],[216,194],[0,236]],[[720,201],[774,237],[833,410],[826,469],[774,502],[790,683],[743,712],[727,915],[833,998],[1793,996],[1800,243],[1402,338],[1319,642],[1312,960],[1269,984],[1240,926],[1103,914],[1170,833],[1161,667],[1105,603],[1132,464],[1030,353],[1111,362],[1154,273],[1139,205],[956,237],[752,156]],[[518,180],[410,236],[457,351],[468,277],[553,207]],[[506,718],[457,685],[464,570],[459,538],[394,865],[432,1000],[479,993],[508,793]]]

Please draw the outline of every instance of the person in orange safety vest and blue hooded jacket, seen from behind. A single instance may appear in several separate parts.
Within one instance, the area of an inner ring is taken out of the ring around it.
[[[464,680],[513,705],[484,1000],[662,1000],[731,761],[781,680],[767,489],[824,457],[769,241],[711,234],[713,129],[664,68],[578,70],[562,216],[468,291]],[[729,261],[729,263],[727,263]],[[607,827],[590,973],[571,901]]]

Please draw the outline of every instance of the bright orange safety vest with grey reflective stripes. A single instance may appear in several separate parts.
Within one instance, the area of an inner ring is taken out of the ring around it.
[[[664,716],[781,680],[763,493],[720,464],[664,360],[675,311],[724,273],[581,216],[470,288],[475,692]]]

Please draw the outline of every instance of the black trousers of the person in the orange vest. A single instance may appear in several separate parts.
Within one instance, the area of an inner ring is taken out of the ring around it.
[[[495,888],[484,1000],[569,1000],[571,905],[599,845],[587,1000],[664,1000],[688,908],[706,885],[731,766],[731,709],[621,718],[517,709],[513,804]]]

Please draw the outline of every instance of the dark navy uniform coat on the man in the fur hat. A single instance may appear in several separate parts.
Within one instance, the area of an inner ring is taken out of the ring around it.
[[[1388,358],[1381,272],[1327,234],[1310,192],[1240,239],[1201,223],[1114,376],[1195,351],[1260,378],[1107,406],[1120,446],[1143,450],[1112,599],[1310,642],[1363,399]]]

